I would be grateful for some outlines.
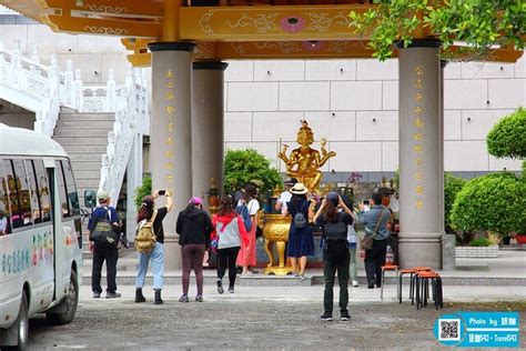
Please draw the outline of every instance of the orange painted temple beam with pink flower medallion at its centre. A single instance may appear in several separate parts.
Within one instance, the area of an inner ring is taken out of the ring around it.
[[[212,41],[361,40],[348,13],[374,4],[183,7],[181,39]]]

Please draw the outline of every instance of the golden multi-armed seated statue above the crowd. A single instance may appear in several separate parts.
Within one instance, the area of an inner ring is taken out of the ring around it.
[[[314,142],[314,133],[308,127],[307,121],[302,121],[302,127],[297,131],[296,141],[300,148],[292,150],[291,154],[286,156],[287,144],[283,144],[282,150],[277,154],[280,159],[286,164],[286,176],[296,178],[310,191],[320,192],[320,180],[322,179],[322,171],[320,170],[330,158],[336,156],[336,152],[328,152],[325,149],[327,141],[321,140],[321,151],[311,148]]]

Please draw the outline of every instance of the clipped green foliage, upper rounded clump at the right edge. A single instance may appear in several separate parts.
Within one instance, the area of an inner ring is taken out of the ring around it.
[[[499,120],[487,134],[486,144],[494,157],[526,159],[526,109],[518,108]]]

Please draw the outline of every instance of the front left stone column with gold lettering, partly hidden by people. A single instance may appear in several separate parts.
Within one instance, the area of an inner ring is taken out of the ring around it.
[[[195,44],[154,42],[152,51],[152,188],[169,189],[174,209],[163,221],[164,270],[181,267],[175,220],[192,193],[191,101],[192,58]],[[164,199],[158,199],[158,207]]]

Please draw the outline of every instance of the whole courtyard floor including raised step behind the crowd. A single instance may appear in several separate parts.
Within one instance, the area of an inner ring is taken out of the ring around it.
[[[89,263],[89,261],[88,261]],[[338,289],[335,288],[334,321],[323,322],[323,273],[308,270],[305,280],[254,274],[237,279],[234,294],[220,295],[213,269],[205,270],[204,302],[181,303],[181,272],[165,274],[163,305],[153,304],[150,278],[148,301],[134,303],[132,252],[119,261],[121,299],[93,299],[91,267],[84,279],[75,322],[51,328],[43,317],[30,321],[30,349],[81,350],[350,350],[441,348],[433,335],[435,320],[457,311],[514,311],[520,313],[520,347],[526,348],[526,251],[500,251],[498,259],[457,259],[455,271],[442,271],[444,309],[416,310],[407,299],[396,299],[393,278],[387,279],[384,299],[380,289],[350,287],[351,321],[340,321]],[[390,274],[392,277],[392,274]],[[105,279],[102,280],[103,287]],[[407,279],[405,279],[407,282]],[[103,294],[104,295],[104,294]]]

